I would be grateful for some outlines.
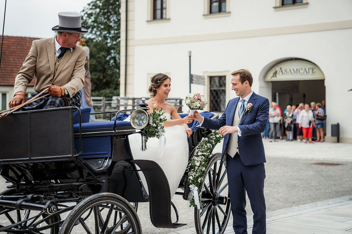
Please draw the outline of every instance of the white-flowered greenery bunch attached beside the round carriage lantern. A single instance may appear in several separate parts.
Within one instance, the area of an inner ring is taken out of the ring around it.
[[[153,112],[149,114],[149,118],[152,119],[150,124],[144,128],[146,135],[146,141],[148,138],[156,137],[161,138],[162,133],[165,133],[164,122],[166,121],[166,117],[164,115],[163,108],[159,110],[158,108],[154,108]]]

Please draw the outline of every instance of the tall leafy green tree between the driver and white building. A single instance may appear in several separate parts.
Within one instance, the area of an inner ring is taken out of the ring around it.
[[[90,49],[92,96],[120,95],[120,0],[93,0],[82,11]]]

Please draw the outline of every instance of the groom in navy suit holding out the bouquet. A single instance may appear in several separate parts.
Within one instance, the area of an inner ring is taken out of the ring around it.
[[[253,210],[253,234],[266,233],[264,199],[265,154],[261,133],[269,116],[269,100],[252,91],[252,74],[246,69],[231,73],[231,89],[237,98],[227,103],[220,119],[203,118],[201,126],[219,129],[224,138],[222,160],[226,160],[233,230],[247,234],[246,191]]]

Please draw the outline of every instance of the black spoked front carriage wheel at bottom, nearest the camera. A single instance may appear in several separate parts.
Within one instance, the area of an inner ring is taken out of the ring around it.
[[[84,217],[93,209],[93,215]],[[121,213],[120,216],[114,215]],[[100,220],[103,220],[103,225]],[[84,199],[67,216],[59,234],[69,233],[106,233],[113,234],[122,225],[130,224],[129,234],[141,234],[142,228],[136,211],[128,201],[113,193],[99,193]]]

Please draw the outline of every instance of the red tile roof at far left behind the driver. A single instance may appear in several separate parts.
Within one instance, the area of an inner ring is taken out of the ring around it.
[[[39,38],[4,36],[1,53],[0,85],[14,85],[15,77],[29,53],[32,41],[37,39]],[[34,86],[34,79],[29,86]]]

